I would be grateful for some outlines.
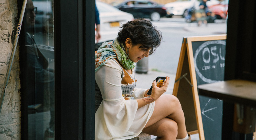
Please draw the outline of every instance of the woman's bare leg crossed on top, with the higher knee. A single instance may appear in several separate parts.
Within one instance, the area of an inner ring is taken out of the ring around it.
[[[177,99],[177,97],[173,95],[165,94],[160,96],[155,101],[154,112],[151,118],[148,120],[145,128],[153,124],[158,125],[156,122],[158,122],[159,120],[162,120],[165,117],[170,118],[177,123],[177,126],[178,126],[177,138],[178,139],[185,138],[187,135],[187,130],[185,125],[184,113],[181,108],[179,100]],[[152,133],[153,131],[154,129],[152,130]],[[151,133],[148,132],[148,134],[151,134]]]

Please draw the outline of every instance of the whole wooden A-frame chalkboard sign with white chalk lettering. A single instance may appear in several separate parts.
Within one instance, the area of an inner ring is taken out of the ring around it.
[[[184,37],[173,95],[184,111],[186,128],[200,140],[221,140],[221,100],[198,95],[197,86],[224,80],[226,35]]]

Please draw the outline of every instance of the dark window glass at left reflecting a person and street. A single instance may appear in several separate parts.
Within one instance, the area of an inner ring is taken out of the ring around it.
[[[28,0],[24,14],[25,82],[28,139],[54,139],[53,1]],[[24,92],[24,91],[23,91]]]

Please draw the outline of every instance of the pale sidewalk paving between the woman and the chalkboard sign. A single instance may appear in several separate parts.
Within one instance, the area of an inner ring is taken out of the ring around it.
[[[136,67],[135,67],[136,68]],[[164,73],[164,72],[159,72],[159,71],[148,71],[147,74],[135,74],[137,78],[137,83],[136,83],[136,88],[145,88],[149,89],[152,86],[153,80],[156,79],[157,76],[169,76],[170,77],[170,82],[169,86],[167,88],[167,91],[164,94],[172,94],[173,93],[173,87],[174,87],[174,81],[175,81],[175,74],[170,74],[170,73]],[[151,139],[155,139],[156,136],[151,135]],[[199,140],[199,135],[194,134],[191,135],[192,140]]]

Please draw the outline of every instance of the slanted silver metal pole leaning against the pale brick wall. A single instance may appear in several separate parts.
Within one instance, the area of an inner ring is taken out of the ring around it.
[[[12,65],[13,65],[13,59],[14,59],[14,55],[15,55],[15,52],[16,52],[17,44],[18,44],[19,33],[20,33],[21,24],[22,24],[23,17],[24,17],[26,5],[27,5],[27,0],[24,0],[23,5],[22,5],[22,9],[21,9],[21,13],[20,13],[20,17],[19,17],[19,23],[18,23],[18,27],[17,27],[17,30],[16,30],[15,39],[14,39],[13,50],[12,50],[12,54],[11,54],[11,57],[10,57],[10,62],[9,62],[9,65],[8,65],[6,76],[5,76],[4,87],[3,87],[3,91],[2,91],[2,94],[1,94],[1,98],[0,98],[0,104],[1,104],[0,114],[1,114],[3,103],[4,103],[5,89],[7,87],[8,80],[9,80],[9,77],[10,77],[11,68],[12,68]]]

